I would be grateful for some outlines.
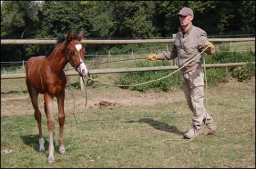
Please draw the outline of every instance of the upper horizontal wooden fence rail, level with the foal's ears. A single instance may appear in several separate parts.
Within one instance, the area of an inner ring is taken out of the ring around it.
[[[255,38],[208,38],[212,42],[230,42],[230,41],[255,41]],[[174,39],[156,39],[156,40],[82,40],[86,45],[116,45],[116,44],[137,44],[137,43],[172,43]],[[57,40],[1,40],[1,45],[48,45],[56,44]]]

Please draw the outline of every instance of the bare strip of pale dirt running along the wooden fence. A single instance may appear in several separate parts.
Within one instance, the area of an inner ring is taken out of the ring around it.
[[[237,95],[239,94],[239,89],[243,88],[244,83],[245,82],[237,82],[236,79],[231,79],[227,83],[220,84],[219,87],[208,88],[207,97],[209,99]],[[254,85],[255,88],[255,77],[250,80],[250,84]],[[115,108],[131,105],[155,105],[159,103],[186,101],[181,89],[175,89],[172,92],[138,92],[120,89],[119,87],[99,85],[99,87],[96,88],[88,87],[87,105],[84,106],[86,103],[85,91],[73,90],[72,92],[66,90],[65,114],[72,114],[74,108],[75,111],[83,112],[88,108]],[[255,93],[255,90],[253,92]],[[2,86],[1,93],[4,94]],[[38,97],[38,105],[42,114],[44,114],[44,98],[42,94]],[[58,112],[56,99],[54,99],[52,103],[52,110]],[[28,114],[34,114],[34,109],[28,94],[24,96],[1,96],[1,116]]]

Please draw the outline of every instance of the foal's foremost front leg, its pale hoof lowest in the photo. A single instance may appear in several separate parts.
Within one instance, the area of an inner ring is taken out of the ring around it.
[[[47,128],[49,131],[49,156],[48,156],[48,163],[52,165],[54,163],[54,128],[55,128],[55,121],[52,114],[52,101],[53,96],[49,94],[44,94],[44,110],[47,117]]]

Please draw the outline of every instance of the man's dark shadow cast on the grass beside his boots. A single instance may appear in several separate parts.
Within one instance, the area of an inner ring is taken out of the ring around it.
[[[140,123],[147,123],[150,126],[152,126],[155,129],[159,129],[161,131],[166,131],[169,133],[175,133],[177,135],[183,135],[183,131],[179,131],[179,129],[176,128],[176,126],[170,126],[169,124],[161,121],[155,121],[154,119],[145,118],[145,119],[139,119],[138,121],[128,121],[128,122],[140,122]]]

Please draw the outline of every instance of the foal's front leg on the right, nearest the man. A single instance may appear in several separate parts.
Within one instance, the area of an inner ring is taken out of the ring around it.
[[[57,98],[58,110],[59,110],[58,121],[59,121],[59,124],[60,124],[60,138],[59,138],[59,143],[60,143],[59,152],[60,152],[60,154],[66,154],[66,150],[65,150],[65,147],[64,147],[64,123],[65,123],[64,99],[65,99],[65,90],[63,90],[61,92],[60,96]]]

